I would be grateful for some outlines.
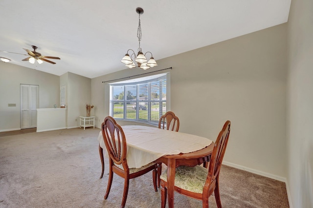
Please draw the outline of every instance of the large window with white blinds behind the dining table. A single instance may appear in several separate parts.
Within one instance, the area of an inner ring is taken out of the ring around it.
[[[157,125],[166,113],[166,74],[110,84],[110,116]]]

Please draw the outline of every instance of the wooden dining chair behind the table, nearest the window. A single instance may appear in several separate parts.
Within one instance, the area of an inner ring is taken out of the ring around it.
[[[158,121],[158,128],[177,131],[179,129],[179,119],[172,111],[167,111]],[[157,187],[160,187],[160,176],[162,173],[162,163],[157,164]]]

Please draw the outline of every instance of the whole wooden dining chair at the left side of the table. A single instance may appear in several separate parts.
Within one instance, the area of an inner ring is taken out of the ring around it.
[[[104,119],[101,131],[104,143],[109,153],[109,166],[110,166],[108,187],[107,192],[104,195],[104,199],[107,199],[109,196],[112,185],[113,173],[124,178],[125,181],[122,204],[120,206],[121,208],[125,207],[128,194],[129,180],[132,178],[141,176],[153,170],[153,185],[155,191],[157,191],[156,187],[157,164],[150,163],[140,168],[128,167],[126,159],[127,144],[125,134],[122,127],[116,124],[115,120],[111,116],[108,116]]]

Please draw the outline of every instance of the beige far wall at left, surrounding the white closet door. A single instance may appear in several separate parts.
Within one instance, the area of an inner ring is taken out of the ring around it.
[[[39,85],[39,107],[60,104],[59,76],[0,62],[0,131],[20,129],[20,84]],[[8,107],[16,104],[16,107]]]

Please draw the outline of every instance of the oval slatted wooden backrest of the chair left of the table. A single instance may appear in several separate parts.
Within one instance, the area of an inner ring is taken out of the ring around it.
[[[107,116],[102,123],[102,137],[107,147],[110,158],[116,165],[126,161],[126,138],[122,127]]]

